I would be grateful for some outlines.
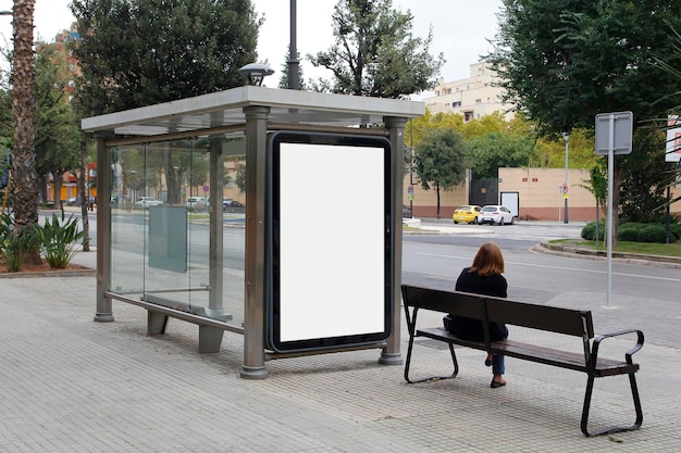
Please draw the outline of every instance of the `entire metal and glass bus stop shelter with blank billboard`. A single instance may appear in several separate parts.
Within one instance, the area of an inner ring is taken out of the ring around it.
[[[244,335],[265,360],[380,348],[400,364],[404,129],[422,102],[246,86],[85,118],[97,140],[97,309]],[[239,199],[239,200],[237,200]],[[237,207],[234,207],[237,206]]]

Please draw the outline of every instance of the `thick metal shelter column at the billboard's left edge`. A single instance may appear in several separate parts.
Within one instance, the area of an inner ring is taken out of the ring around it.
[[[244,313],[245,379],[264,379],[265,190],[268,106],[246,106],[246,288]]]

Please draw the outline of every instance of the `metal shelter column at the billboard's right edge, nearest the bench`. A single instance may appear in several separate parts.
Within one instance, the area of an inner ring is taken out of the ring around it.
[[[387,344],[381,352],[379,363],[385,365],[401,365],[399,351],[400,322],[401,322],[401,275],[403,275],[403,164],[405,161],[405,125],[407,118],[386,116],[383,118],[389,130],[389,140],[393,148],[393,332]]]

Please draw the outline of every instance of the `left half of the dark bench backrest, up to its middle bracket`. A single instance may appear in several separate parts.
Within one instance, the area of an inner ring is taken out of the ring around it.
[[[458,291],[441,291],[403,285],[405,305],[484,319],[484,298]]]

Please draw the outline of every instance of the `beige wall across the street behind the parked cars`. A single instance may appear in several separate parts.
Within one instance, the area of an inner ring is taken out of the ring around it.
[[[499,168],[499,193],[519,193],[519,217],[529,221],[562,221],[565,219],[565,199],[560,187],[565,181],[565,168]],[[569,221],[591,222],[596,218],[596,200],[585,188],[589,186],[586,169],[569,169],[568,172],[568,218]],[[436,217],[435,190],[424,190],[413,176],[413,216]],[[451,217],[453,211],[467,204],[469,193],[468,180],[451,191],[441,191],[441,218]],[[404,204],[409,206],[409,174],[405,176]],[[672,190],[672,199],[681,197],[681,188]],[[681,216],[681,201],[671,205],[671,213]],[[603,218],[604,213],[599,213]]]

